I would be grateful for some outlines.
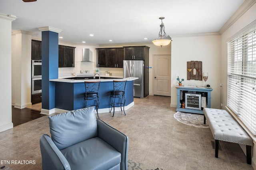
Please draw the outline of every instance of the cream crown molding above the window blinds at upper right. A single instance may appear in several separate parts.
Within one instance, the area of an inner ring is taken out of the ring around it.
[[[223,34],[238,18],[240,18],[253,4],[256,0],[245,0],[244,3],[236,10],[236,12],[228,19],[228,21],[220,28],[219,33]]]

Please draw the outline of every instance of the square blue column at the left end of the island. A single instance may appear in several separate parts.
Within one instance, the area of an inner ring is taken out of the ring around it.
[[[55,108],[55,83],[58,79],[58,33],[42,31],[42,109]]]

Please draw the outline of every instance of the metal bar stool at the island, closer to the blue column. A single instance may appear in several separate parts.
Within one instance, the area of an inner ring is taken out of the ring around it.
[[[91,107],[91,106],[96,106],[96,111],[97,111],[97,116],[98,119],[99,113],[99,87],[100,87],[100,81],[84,81],[85,85],[85,93],[84,93],[84,107]],[[92,105],[92,102],[89,102],[90,105],[87,105],[87,101],[94,100],[96,103]]]

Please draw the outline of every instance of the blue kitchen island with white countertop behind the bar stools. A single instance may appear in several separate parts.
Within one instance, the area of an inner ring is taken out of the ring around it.
[[[97,77],[98,78],[98,77]],[[134,105],[133,101],[133,81],[137,77],[128,78],[111,78],[100,79],[99,87],[99,109],[98,113],[110,112],[110,92],[113,91],[114,80],[126,80],[125,98],[126,103],[124,109],[127,110]],[[86,81],[98,81],[99,79],[86,79]],[[70,77],[62,77],[60,79],[51,79],[55,82],[55,108],[63,110],[76,110],[84,108],[84,79],[70,79]],[[88,103],[90,104],[90,103]],[[113,111],[113,109],[112,109]],[[120,107],[116,107],[115,111],[120,111]]]

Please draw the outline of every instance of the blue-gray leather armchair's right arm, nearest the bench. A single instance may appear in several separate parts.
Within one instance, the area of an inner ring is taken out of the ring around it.
[[[121,153],[121,170],[127,170],[129,138],[122,132],[97,119],[98,137]]]

